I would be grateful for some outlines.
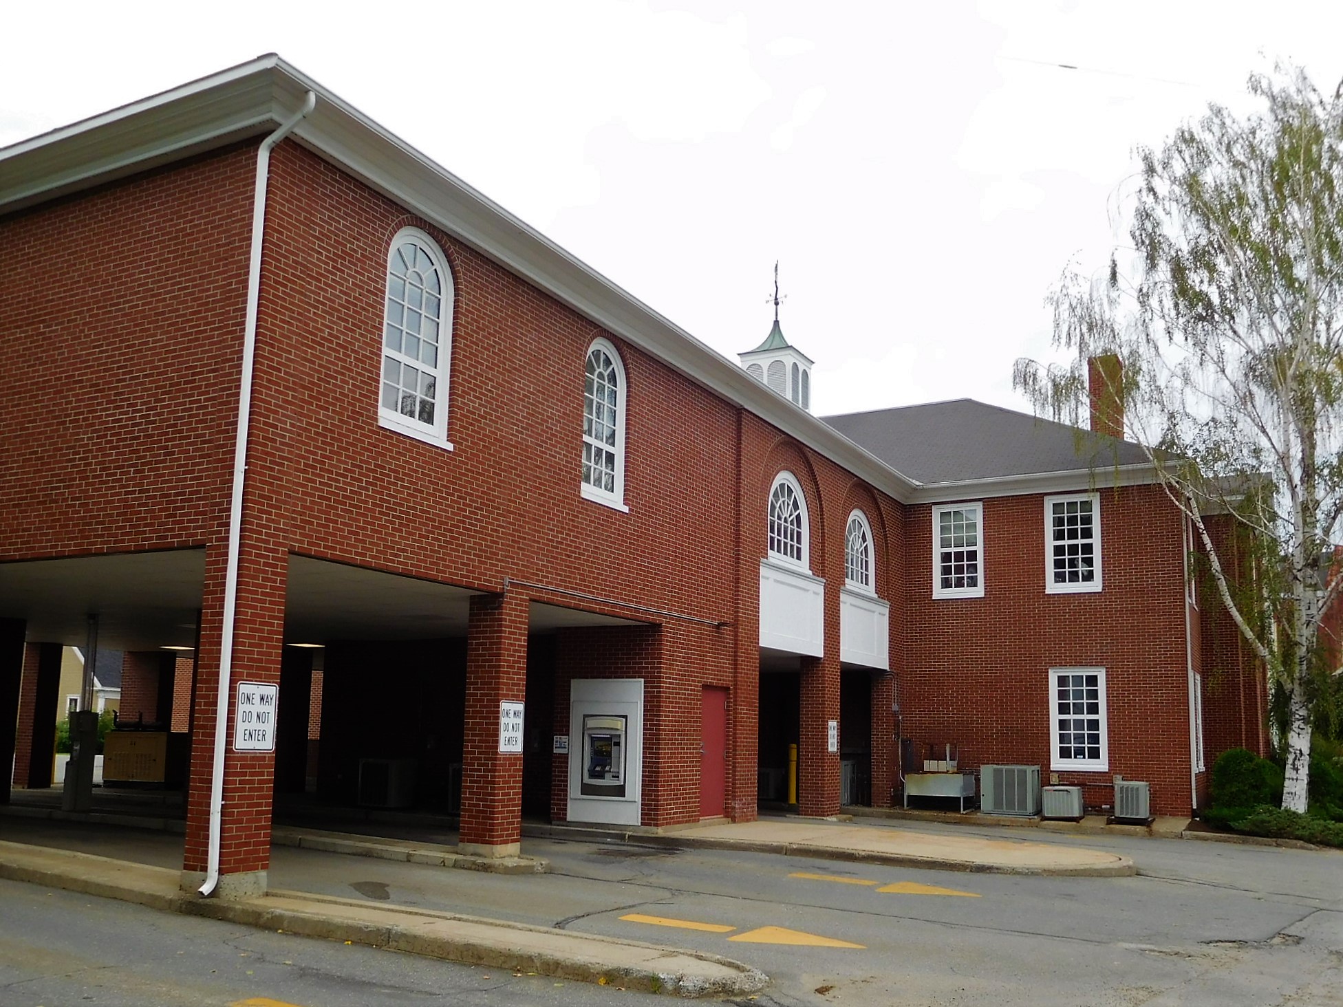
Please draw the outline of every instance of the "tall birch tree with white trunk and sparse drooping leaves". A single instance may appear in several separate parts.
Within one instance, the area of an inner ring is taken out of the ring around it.
[[[1249,90],[1254,113],[1213,105],[1139,149],[1132,248],[1049,297],[1073,363],[1018,360],[1013,381],[1076,424],[1088,358],[1119,357],[1104,373],[1125,436],[1193,522],[1209,581],[1268,669],[1285,708],[1283,807],[1304,812],[1312,709],[1338,674],[1320,616],[1343,584],[1322,577],[1343,510],[1343,83],[1326,95],[1279,67]],[[1237,534],[1215,534],[1210,514]]]

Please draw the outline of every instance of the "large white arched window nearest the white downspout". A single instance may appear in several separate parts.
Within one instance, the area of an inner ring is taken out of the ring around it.
[[[434,239],[407,227],[387,255],[379,422],[446,447],[453,273]]]

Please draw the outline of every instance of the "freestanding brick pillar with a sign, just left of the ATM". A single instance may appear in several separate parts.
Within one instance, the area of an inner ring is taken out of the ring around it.
[[[466,631],[466,730],[462,748],[463,853],[516,857],[522,836],[522,755],[500,748],[500,704],[526,697],[528,600],[471,597]]]

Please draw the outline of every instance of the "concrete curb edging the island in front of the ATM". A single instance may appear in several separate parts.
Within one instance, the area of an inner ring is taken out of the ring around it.
[[[1077,867],[1033,867],[1013,863],[983,863],[978,861],[951,859],[940,857],[916,857],[913,854],[882,853],[880,850],[846,850],[835,846],[815,846],[811,843],[768,842],[759,839],[720,839],[693,836],[684,832],[627,832],[594,828],[573,830],[567,834],[563,827],[548,826],[547,836],[552,839],[575,838],[582,842],[629,843],[631,846],[735,850],[739,853],[770,853],[780,857],[808,857],[823,861],[845,861],[849,863],[878,863],[886,867],[912,867],[917,870],[947,870],[964,874],[1017,874],[1050,878],[1128,878],[1138,874],[1138,867],[1129,857],[1116,857],[1113,863]]]

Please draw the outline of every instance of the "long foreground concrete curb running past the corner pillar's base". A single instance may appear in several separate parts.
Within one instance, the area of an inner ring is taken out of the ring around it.
[[[199,898],[177,889],[179,871],[70,850],[0,842],[0,877],[305,937],[651,994],[745,996],[768,984],[763,972],[717,955],[501,920],[294,892]]]

